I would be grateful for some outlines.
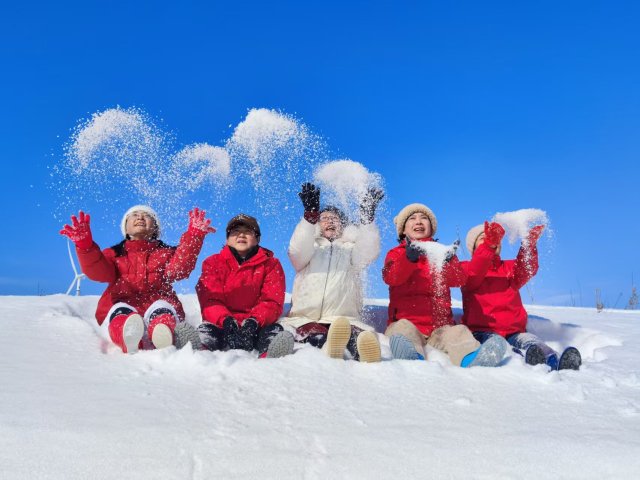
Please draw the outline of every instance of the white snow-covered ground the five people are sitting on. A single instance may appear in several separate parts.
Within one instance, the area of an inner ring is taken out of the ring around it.
[[[200,321],[194,295],[182,297]],[[0,477],[638,478],[640,312],[528,307],[580,371],[360,364],[311,347],[123,355],[97,297],[0,297]],[[373,301],[384,304],[385,301]],[[371,307],[374,320],[382,307]],[[388,349],[383,349],[388,358]]]

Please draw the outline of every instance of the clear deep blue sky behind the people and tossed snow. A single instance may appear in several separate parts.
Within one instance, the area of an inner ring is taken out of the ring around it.
[[[294,114],[384,177],[387,217],[425,203],[447,242],[543,209],[554,237],[526,301],[591,306],[600,289],[622,307],[640,283],[635,2],[130,3],[2,9],[0,294],[66,290],[50,168],[79,120],[116,105],[185,144],[220,144],[249,108]],[[120,238],[108,227],[103,247]],[[284,245],[263,244],[288,267]]]

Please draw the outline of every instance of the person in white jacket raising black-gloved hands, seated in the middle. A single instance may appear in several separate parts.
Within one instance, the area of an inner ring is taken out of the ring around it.
[[[348,225],[336,207],[320,209],[320,189],[305,183],[299,193],[304,218],[289,242],[296,270],[291,310],[280,322],[295,339],[323,347],[333,358],[348,348],[360,361],[380,360],[373,328],[361,320],[362,273],[380,254],[380,233],[373,223],[382,190],[369,188],[361,206],[361,224]],[[326,342],[326,345],[325,345]]]

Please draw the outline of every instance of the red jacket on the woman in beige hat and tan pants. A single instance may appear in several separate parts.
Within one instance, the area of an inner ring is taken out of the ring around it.
[[[438,327],[453,325],[449,288],[464,285],[469,269],[486,270],[493,252],[481,245],[477,260],[467,262],[470,265],[463,267],[454,256],[437,272],[425,256],[420,256],[416,263],[410,262],[405,245],[403,240],[387,253],[382,270],[382,278],[389,285],[388,323],[405,318],[429,336]]]

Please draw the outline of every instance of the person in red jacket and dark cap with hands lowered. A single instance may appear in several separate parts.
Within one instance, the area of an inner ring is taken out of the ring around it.
[[[229,221],[220,253],[202,264],[196,292],[203,323],[197,331],[209,350],[256,348],[264,354],[283,330],[275,322],[284,305],[284,271],[259,243],[257,220],[242,213]]]

